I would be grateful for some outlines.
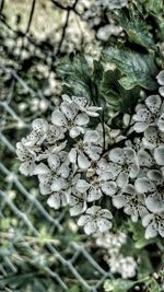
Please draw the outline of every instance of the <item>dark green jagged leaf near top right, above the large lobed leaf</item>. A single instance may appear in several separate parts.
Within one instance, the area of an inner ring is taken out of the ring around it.
[[[115,19],[126,31],[131,43],[138,44],[148,50],[156,48],[143,14],[133,3],[129,4],[128,10],[121,10],[119,14],[115,14]]]

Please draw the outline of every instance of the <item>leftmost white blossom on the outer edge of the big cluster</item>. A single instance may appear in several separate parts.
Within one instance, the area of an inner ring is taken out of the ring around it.
[[[26,148],[22,142],[16,143],[16,155],[22,162],[20,172],[24,175],[33,175],[35,170],[36,154],[33,150]]]

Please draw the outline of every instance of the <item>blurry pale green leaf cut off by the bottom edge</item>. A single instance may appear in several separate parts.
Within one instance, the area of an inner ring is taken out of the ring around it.
[[[136,282],[137,281],[124,279],[106,280],[104,283],[104,290],[105,292],[127,292],[136,284]]]

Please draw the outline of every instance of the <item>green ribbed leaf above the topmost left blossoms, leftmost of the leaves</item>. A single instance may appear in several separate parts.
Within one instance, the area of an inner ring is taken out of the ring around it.
[[[82,55],[63,58],[57,67],[57,73],[74,95],[91,96],[91,69]]]

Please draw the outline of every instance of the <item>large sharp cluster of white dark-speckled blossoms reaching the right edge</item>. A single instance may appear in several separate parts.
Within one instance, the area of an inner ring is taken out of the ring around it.
[[[164,84],[164,71],[157,82]],[[114,140],[115,130],[97,125],[101,110],[85,97],[62,95],[51,122],[34,120],[32,132],[17,143],[20,171],[38,176],[50,207],[68,205],[72,217],[80,215],[86,234],[112,227],[110,210],[102,209],[110,200],[133,222],[142,221],[147,238],[164,237],[163,97],[151,95],[138,106],[130,132],[139,138],[132,141],[121,132]],[[116,147],[120,140],[124,147]]]

